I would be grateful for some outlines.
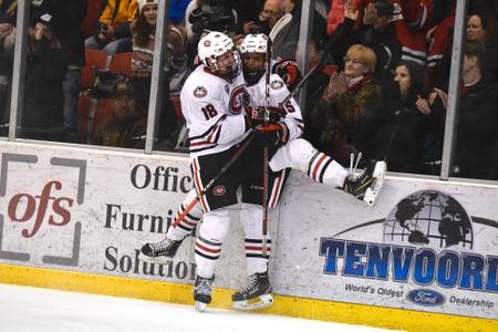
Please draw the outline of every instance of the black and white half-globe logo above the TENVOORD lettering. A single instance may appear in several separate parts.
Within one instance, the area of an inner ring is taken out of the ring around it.
[[[470,217],[452,196],[423,190],[403,198],[384,221],[384,242],[473,248]]]

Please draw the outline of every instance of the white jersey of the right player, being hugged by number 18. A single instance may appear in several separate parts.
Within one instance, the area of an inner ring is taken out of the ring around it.
[[[251,106],[264,106],[266,104],[266,77],[264,75],[253,85],[247,85],[246,90],[250,95]],[[278,107],[280,103],[290,94],[286,83],[277,74],[270,75],[270,106]],[[291,98],[286,105],[282,105],[287,115],[282,122],[289,128],[289,141],[299,138],[304,131],[301,107]]]

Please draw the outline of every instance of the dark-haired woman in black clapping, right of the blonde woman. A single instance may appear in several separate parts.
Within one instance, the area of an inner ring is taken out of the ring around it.
[[[424,68],[414,61],[402,61],[395,70],[394,89],[385,91],[390,112],[378,124],[371,141],[372,156],[385,159],[390,170],[402,173],[425,172],[425,143],[439,148],[435,156],[440,160],[444,106],[439,95],[428,93]],[[386,89],[386,86],[384,86]],[[396,102],[396,95],[400,97]]]

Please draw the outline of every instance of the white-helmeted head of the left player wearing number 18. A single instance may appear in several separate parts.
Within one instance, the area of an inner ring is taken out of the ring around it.
[[[216,73],[235,76],[240,71],[240,56],[234,48],[234,41],[222,32],[211,31],[206,34],[199,41],[197,51],[204,65]],[[218,58],[226,53],[231,53],[234,61],[218,63]]]

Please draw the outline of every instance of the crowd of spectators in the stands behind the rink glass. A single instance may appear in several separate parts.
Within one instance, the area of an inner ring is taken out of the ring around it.
[[[0,0],[0,135],[6,135],[17,0]],[[158,0],[30,1],[20,137],[141,147],[149,104]],[[386,159],[392,172],[439,173],[456,0],[317,0],[305,136],[347,163]],[[496,0],[468,2],[452,175],[498,179]],[[175,151],[178,94],[206,31],[237,41],[271,37],[276,60],[295,60],[299,0],[170,1],[157,148]],[[283,70],[282,75],[290,75]],[[122,90],[116,93],[116,86]],[[126,108],[126,110],[125,110]],[[121,135],[118,133],[121,132]]]

